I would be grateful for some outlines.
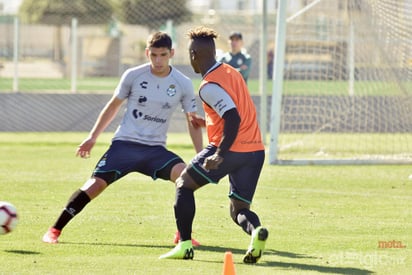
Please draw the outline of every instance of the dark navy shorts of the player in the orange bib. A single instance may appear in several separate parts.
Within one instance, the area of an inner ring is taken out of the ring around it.
[[[252,203],[256,185],[265,160],[265,151],[227,152],[218,169],[205,170],[202,166],[205,158],[216,152],[216,146],[208,145],[187,167],[187,173],[202,186],[207,183],[218,183],[226,175],[229,176],[229,197],[246,203]]]

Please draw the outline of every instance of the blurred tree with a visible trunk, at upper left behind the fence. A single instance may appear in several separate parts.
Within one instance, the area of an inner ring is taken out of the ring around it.
[[[70,25],[72,18],[79,24],[107,24],[114,8],[110,0],[24,0],[20,17],[24,22],[55,25],[56,61],[63,60],[61,27]]]

